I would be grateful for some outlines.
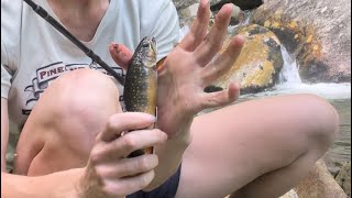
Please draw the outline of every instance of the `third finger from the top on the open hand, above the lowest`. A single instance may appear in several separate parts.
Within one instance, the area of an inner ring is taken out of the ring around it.
[[[234,36],[229,43],[228,48],[219,54],[213,62],[210,62],[201,70],[201,78],[204,79],[204,85],[208,86],[212,81],[224,75],[237,61],[241,54],[244,37],[242,35]]]

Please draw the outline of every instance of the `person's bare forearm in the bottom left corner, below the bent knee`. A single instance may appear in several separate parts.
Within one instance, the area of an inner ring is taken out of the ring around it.
[[[81,169],[58,172],[45,176],[28,177],[1,173],[1,197],[79,197],[78,178]]]

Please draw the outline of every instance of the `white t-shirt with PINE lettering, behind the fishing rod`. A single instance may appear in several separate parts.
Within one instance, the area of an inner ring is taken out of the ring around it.
[[[34,2],[58,21],[46,0]],[[154,36],[160,59],[178,41],[178,16],[170,0],[111,0],[96,35],[84,44],[121,74],[108,51],[111,42],[134,51],[144,36]],[[87,55],[22,0],[1,0],[1,98],[9,101],[9,143],[15,142],[13,136],[21,132],[53,79],[90,63]],[[122,86],[118,87],[122,92]]]

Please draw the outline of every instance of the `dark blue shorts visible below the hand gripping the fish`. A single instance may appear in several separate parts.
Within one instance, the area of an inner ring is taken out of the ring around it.
[[[152,191],[136,191],[132,195],[127,196],[127,198],[174,198],[178,188],[180,175],[180,166],[177,172],[170,176],[164,184],[155,188]]]

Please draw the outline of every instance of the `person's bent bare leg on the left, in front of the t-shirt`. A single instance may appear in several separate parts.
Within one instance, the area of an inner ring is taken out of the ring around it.
[[[118,88],[106,75],[78,69],[58,77],[23,128],[15,173],[45,175],[85,166],[96,135],[117,112]]]

